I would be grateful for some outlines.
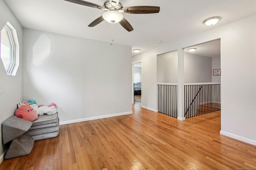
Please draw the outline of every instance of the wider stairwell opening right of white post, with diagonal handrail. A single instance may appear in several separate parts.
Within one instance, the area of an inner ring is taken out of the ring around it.
[[[188,49],[196,49],[190,52]],[[221,109],[220,39],[184,48],[184,115]]]

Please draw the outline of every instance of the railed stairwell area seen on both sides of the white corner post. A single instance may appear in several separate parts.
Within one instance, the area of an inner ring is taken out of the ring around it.
[[[184,117],[220,111],[220,77],[220,39],[184,48]],[[157,81],[158,112],[177,118],[177,51],[158,55]]]

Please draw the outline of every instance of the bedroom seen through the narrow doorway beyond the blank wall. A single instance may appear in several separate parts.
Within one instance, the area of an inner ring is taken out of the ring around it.
[[[141,62],[133,63],[133,101],[135,105],[141,106],[142,86],[141,86]]]

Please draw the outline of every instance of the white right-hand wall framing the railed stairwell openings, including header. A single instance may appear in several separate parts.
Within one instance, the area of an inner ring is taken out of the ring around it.
[[[221,39],[221,134],[256,145],[256,15],[152,49],[132,61],[142,61],[145,107],[157,109],[157,55]],[[182,54],[182,53],[181,53]],[[178,56],[181,57],[181,56]]]

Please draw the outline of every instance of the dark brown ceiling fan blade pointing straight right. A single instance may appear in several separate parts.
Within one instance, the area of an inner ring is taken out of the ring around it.
[[[160,11],[159,6],[130,6],[122,8],[124,13],[128,14],[154,14]]]

